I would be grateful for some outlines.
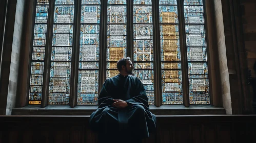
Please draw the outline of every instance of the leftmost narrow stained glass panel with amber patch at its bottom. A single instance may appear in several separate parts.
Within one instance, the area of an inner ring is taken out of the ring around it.
[[[41,104],[49,0],[37,0],[29,86],[29,104]]]

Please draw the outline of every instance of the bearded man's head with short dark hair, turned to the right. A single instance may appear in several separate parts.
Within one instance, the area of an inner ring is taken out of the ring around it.
[[[119,60],[116,64],[117,69],[120,71],[120,73],[122,74],[128,74],[128,75],[132,75],[133,74],[133,64],[131,62],[131,58],[127,57],[127,58],[123,58],[121,60]]]

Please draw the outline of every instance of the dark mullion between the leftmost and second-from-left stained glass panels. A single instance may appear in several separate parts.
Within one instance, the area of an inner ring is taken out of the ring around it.
[[[48,105],[49,96],[49,81],[50,81],[50,68],[51,68],[51,50],[52,50],[52,34],[53,34],[53,15],[54,15],[55,1],[49,1],[48,21],[47,21],[47,34],[45,46],[45,64],[44,64],[44,78],[43,78],[43,92],[42,92],[42,107]]]

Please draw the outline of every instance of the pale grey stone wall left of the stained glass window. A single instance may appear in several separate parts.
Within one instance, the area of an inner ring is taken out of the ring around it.
[[[24,6],[25,0],[9,1],[7,6],[1,67],[0,114],[10,115],[18,96],[18,67],[22,47]]]

